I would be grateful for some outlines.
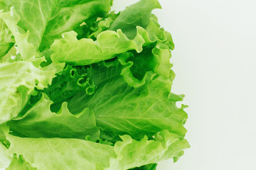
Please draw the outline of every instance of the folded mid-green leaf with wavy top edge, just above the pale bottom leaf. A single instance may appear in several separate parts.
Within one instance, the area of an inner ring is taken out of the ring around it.
[[[52,113],[48,100],[43,94],[40,101],[21,117],[9,121],[7,125],[12,133],[21,137],[65,137],[91,140],[100,138],[100,130],[96,127],[95,115],[86,108],[81,113],[73,115],[68,111],[67,103],[63,103],[60,111]]]

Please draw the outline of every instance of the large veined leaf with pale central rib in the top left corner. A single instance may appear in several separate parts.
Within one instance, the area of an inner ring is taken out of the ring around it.
[[[0,18],[14,35],[23,58],[37,55],[66,31],[73,30],[82,21],[110,10],[110,0],[57,1],[57,0],[4,0],[10,11],[0,13]],[[90,11],[90,12],[89,12]]]

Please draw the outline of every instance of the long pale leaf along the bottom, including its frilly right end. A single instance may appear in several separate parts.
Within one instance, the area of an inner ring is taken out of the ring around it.
[[[91,170],[126,170],[174,158],[189,147],[186,140],[179,139],[167,130],[157,134],[155,140],[144,137],[137,141],[124,135],[121,136],[122,141],[114,146],[77,139],[26,138],[12,135],[7,135],[7,138],[11,142],[8,153],[22,155],[28,164],[38,170],[85,167]]]

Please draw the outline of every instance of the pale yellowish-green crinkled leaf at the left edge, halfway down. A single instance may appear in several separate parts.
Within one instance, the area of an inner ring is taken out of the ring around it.
[[[51,84],[63,64],[40,67],[43,58],[33,62],[0,63],[0,123],[18,115],[34,89],[44,89]]]

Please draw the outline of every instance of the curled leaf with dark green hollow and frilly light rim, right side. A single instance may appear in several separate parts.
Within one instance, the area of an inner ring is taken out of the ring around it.
[[[127,52],[118,55],[120,64],[123,65],[121,75],[129,86],[139,87],[145,84],[146,72],[155,72],[166,79],[169,79],[171,90],[171,81],[175,74],[171,70],[170,64],[171,51],[167,45],[156,44],[155,47],[144,47],[141,53]]]

